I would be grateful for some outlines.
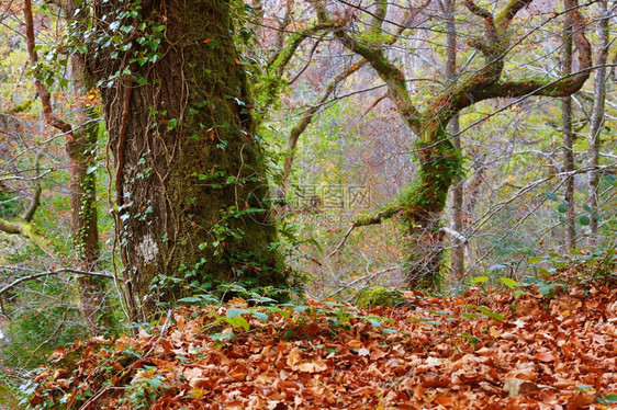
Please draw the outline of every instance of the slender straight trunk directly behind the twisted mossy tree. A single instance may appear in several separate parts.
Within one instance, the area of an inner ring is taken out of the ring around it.
[[[446,79],[449,84],[453,84],[457,79],[457,26],[455,23],[455,4],[456,0],[444,0],[442,12],[446,19]],[[448,133],[452,137],[455,149],[461,151],[461,137],[459,135],[459,115],[458,113],[450,119],[448,124]],[[463,224],[463,186],[464,179],[460,175],[455,176],[455,185],[452,186],[452,229],[461,234],[464,230]],[[464,243],[458,239],[451,239],[451,264],[450,269],[456,277],[461,277],[464,273]]]

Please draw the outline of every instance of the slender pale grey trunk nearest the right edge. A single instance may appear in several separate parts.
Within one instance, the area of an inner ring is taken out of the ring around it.
[[[599,164],[599,147],[602,125],[604,124],[604,104],[606,100],[606,61],[608,59],[608,20],[607,1],[599,0],[598,14],[599,22],[597,25],[598,43],[596,49],[597,68],[594,70],[594,105],[592,109],[592,118],[590,124],[590,148],[588,148],[588,166],[592,170],[588,174],[587,187],[587,206],[591,208],[590,227],[587,244],[594,246],[597,242],[598,220],[596,214],[598,212],[598,186],[599,171],[595,168]]]

